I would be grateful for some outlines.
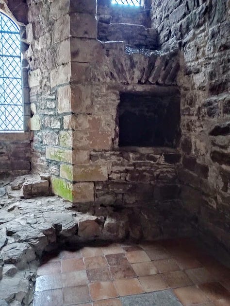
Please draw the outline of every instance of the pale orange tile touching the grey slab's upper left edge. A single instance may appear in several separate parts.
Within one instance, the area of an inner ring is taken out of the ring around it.
[[[119,296],[145,292],[137,278],[117,279],[114,284]]]

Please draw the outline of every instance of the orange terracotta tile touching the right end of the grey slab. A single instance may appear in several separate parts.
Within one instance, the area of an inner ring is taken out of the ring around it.
[[[205,294],[196,286],[173,289],[173,292],[184,306],[209,302]]]

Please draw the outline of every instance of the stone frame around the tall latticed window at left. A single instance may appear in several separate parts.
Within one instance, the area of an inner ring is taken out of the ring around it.
[[[5,135],[7,134],[7,139],[10,141],[15,141],[17,138],[18,140],[21,138],[18,134],[28,134],[30,131],[30,118],[31,118],[31,109],[30,109],[30,88],[28,83],[28,68],[29,64],[28,61],[25,59],[25,52],[29,47],[29,44],[26,40],[26,27],[21,22],[18,22],[11,11],[8,9],[6,5],[4,7],[0,7],[0,13],[3,13],[8,18],[10,18],[19,28],[20,33],[20,51],[22,54],[22,61],[21,61],[21,90],[22,90],[22,106],[23,106],[23,130],[9,130],[9,131],[2,131],[0,130],[0,140],[5,140]],[[17,137],[18,135],[18,137]],[[29,135],[28,135],[29,137]]]

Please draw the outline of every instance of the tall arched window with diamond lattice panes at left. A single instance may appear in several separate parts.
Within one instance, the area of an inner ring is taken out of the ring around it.
[[[0,12],[0,132],[23,130],[20,30]]]

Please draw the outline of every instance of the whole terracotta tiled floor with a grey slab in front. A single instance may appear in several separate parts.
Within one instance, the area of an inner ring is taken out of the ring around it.
[[[83,247],[44,261],[33,306],[230,306],[230,269],[191,239]]]

